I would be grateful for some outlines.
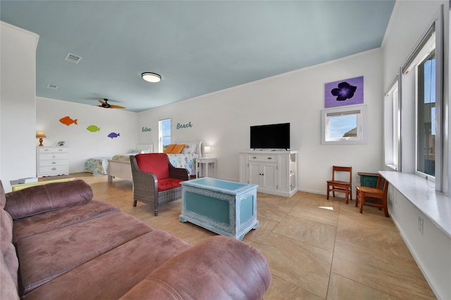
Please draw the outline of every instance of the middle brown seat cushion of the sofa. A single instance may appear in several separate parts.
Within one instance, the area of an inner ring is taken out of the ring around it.
[[[20,239],[23,293],[152,230],[133,216],[116,213]]]

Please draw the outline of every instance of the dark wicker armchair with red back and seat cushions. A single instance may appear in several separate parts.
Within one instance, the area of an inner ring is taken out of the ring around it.
[[[161,204],[182,197],[181,181],[189,179],[187,169],[174,167],[165,153],[130,155],[133,179],[133,206],[137,201],[151,204],[155,216]]]

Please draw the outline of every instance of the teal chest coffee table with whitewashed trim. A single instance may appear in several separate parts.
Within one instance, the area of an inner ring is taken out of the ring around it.
[[[182,222],[242,240],[259,227],[258,185],[199,178],[182,182]]]

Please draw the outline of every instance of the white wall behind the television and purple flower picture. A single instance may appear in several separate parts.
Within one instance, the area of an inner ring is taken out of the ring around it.
[[[324,84],[364,76],[368,105],[366,145],[321,145]],[[218,178],[238,181],[238,152],[249,150],[249,126],[291,123],[291,149],[299,150],[300,190],[326,194],[333,164],[375,172],[383,162],[383,85],[381,49],[280,74],[242,86],[140,112],[140,128],[152,128],[140,143],[158,145],[158,121],[171,117],[173,142],[203,141],[218,159]],[[192,127],[176,129],[178,123]]]

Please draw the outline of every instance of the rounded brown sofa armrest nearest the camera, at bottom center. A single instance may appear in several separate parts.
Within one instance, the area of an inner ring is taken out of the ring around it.
[[[121,299],[263,299],[270,283],[257,249],[217,235],[169,259]]]

